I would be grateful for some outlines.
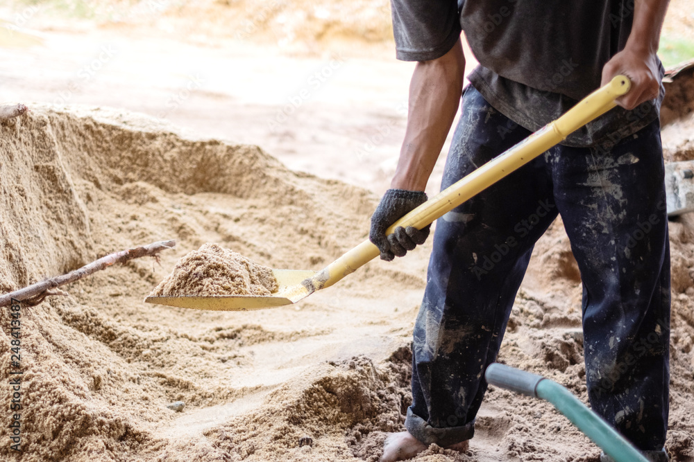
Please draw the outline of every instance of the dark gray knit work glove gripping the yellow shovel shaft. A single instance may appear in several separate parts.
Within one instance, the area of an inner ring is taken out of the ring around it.
[[[429,236],[431,225],[423,229],[414,226],[398,226],[390,236],[386,236],[388,227],[409,211],[427,201],[422,191],[389,189],[383,195],[380,204],[371,216],[369,240],[381,251],[381,260],[391,261],[396,256],[403,257],[408,250],[423,244]]]

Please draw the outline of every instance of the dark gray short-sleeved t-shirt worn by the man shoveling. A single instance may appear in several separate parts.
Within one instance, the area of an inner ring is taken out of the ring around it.
[[[602,66],[624,48],[634,0],[391,0],[396,56],[427,61],[465,31],[480,66],[471,84],[499,112],[536,131],[600,86]],[[662,71],[662,68],[661,68]],[[658,117],[664,95],[620,107],[563,144],[610,145]]]

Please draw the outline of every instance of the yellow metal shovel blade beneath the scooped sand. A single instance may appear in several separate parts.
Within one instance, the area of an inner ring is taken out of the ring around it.
[[[268,296],[260,295],[184,295],[148,296],[144,301],[155,305],[192,308],[194,310],[247,311],[291,305],[310,294],[301,282],[316,272],[303,269],[273,269],[278,290]]]

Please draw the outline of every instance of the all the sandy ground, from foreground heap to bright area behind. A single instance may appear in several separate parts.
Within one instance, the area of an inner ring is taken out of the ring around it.
[[[304,2],[140,2],[135,15],[112,3],[81,19],[46,2],[0,9],[14,26],[0,33],[0,100],[31,107],[0,125],[0,288],[135,245],[178,245],[160,265],[133,260],[22,307],[19,368],[10,311],[0,311],[1,402],[12,398],[10,372],[23,372],[23,452],[2,425],[1,459],[378,460],[411,400],[409,341],[430,242],[287,308],[142,300],[205,242],[317,270],[366,239],[412,72],[393,59],[382,4],[355,2],[336,23],[335,11]],[[381,15],[360,17],[364,5]],[[664,127],[666,159],[694,159],[692,132],[691,114]],[[670,222],[670,241],[667,449],[693,461],[694,217]],[[580,296],[556,222],[536,246],[500,359],[585,402]],[[167,407],[176,401],[183,411]],[[467,454],[432,445],[416,460],[597,462],[599,452],[550,405],[491,387]]]

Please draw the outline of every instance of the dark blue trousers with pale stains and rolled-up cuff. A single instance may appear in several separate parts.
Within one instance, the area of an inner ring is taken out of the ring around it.
[[[530,132],[473,87],[442,188]],[[636,447],[662,452],[668,423],[670,256],[659,123],[612,146],[557,146],[438,220],[414,327],[406,427],[424,443],[473,436],[536,240],[561,214],[581,272],[591,407]]]

